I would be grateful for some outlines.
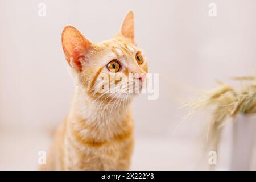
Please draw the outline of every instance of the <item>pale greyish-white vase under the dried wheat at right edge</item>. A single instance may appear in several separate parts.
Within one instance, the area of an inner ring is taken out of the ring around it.
[[[232,130],[230,169],[250,170],[256,131],[255,114],[238,114]]]

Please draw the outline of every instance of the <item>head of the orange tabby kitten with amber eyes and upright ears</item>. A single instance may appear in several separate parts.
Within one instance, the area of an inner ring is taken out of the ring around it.
[[[93,43],[73,26],[62,33],[65,58],[77,84],[90,96],[123,98],[146,83],[147,61],[134,39],[134,15],[129,11],[114,38]]]

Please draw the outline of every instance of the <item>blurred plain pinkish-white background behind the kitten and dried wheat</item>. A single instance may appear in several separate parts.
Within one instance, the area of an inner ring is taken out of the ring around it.
[[[217,16],[209,16],[210,3]],[[202,152],[207,114],[183,122],[188,110],[180,107],[216,79],[232,84],[232,76],[255,74],[255,7],[254,0],[0,0],[0,169],[37,169],[38,151],[48,150],[68,112],[74,85],[61,48],[64,26],[101,42],[130,9],[138,47],[160,80],[157,100],[139,96],[133,103],[131,169],[209,169]],[[228,169],[226,136],[220,169]]]

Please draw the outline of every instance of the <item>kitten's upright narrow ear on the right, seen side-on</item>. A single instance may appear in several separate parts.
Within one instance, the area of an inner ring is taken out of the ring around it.
[[[121,34],[125,38],[131,39],[135,43],[135,40],[134,40],[134,15],[133,15],[132,10],[130,10],[127,13],[127,15],[125,16],[125,19],[123,20],[119,34]]]

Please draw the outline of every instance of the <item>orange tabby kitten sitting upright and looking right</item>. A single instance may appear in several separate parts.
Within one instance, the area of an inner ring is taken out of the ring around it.
[[[137,94],[98,93],[96,88],[101,74],[108,76],[103,80],[105,84],[113,84],[111,74],[128,77],[130,73],[137,75],[134,80],[141,85],[146,82],[148,63],[134,39],[133,11],[129,11],[118,34],[110,40],[92,43],[73,26],[64,28],[61,40],[76,88],[71,109],[55,133],[42,169],[129,169],[134,147],[130,105]],[[125,80],[114,83],[127,86]]]

